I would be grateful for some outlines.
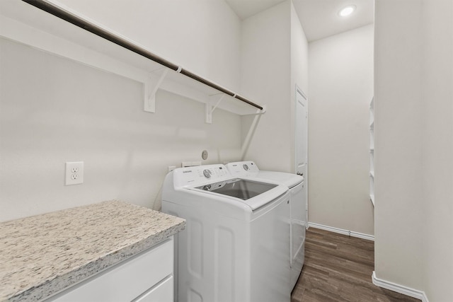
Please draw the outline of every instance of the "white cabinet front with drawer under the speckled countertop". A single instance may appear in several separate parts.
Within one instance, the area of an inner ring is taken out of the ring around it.
[[[173,302],[173,236],[46,301]]]

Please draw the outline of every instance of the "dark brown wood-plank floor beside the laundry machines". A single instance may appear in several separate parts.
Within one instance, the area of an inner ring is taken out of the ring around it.
[[[372,284],[374,242],[309,228],[305,262],[291,302],[420,302]]]

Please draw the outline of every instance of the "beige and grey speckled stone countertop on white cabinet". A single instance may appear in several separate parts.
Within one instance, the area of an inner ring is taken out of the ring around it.
[[[117,200],[0,223],[0,301],[40,301],[184,228]]]

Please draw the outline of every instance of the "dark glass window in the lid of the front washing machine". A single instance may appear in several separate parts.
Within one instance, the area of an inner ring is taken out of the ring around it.
[[[277,185],[270,183],[234,178],[231,180],[214,182],[209,185],[202,185],[200,187],[195,187],[195,189],[215,192],[217,194],[224,194],[230,197],[247,200],[256,197],[264,192],[268,192],[275,187],[277,187]]]

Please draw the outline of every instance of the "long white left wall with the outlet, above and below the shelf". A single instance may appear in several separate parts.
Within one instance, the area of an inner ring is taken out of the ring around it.
[[[240,21],[223,1],[199,1],[184,11],[152,1],[156,18],[132,20],[115,4],[103,10],[115,30],[125,22],[151,50],[172,50],[181,57],[164,56],[223,86],[239,85]],[[184,19],[175,22],[175,13]],[[156,19],[161,23],[149,23]],[[187,24],[193,38],[185,40],[180,29]],[[162,28],[171,35],[158,35]],[[172,43],[181,40],[175,50]],[[180,51],[191,47],[200,52]],[[146,113],[141,83],[4,40],[0,76],[0,221],[113,198],[158,208],[168,165],[201,161],[204,149],[210,157],[202,163],[240,158],[238,115],[216,110],[205,124],[202,103],[161,91],[156,113]],[[64,186],[66,161],[85,162],[83,185]]]

